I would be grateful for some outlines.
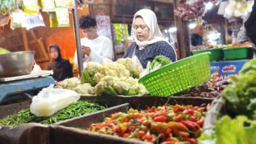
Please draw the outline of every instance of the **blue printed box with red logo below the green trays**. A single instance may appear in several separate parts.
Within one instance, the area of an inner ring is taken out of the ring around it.
[[[238,75],[248,60],[211,62],[211,82],[221,83],[228,80],[229,75]]]

